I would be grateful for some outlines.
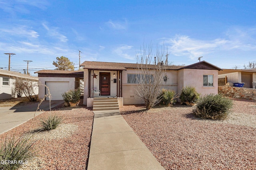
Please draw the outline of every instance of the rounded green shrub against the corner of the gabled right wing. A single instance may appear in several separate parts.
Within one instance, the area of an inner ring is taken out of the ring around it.
[[[200,94],[196,92],[195,87],[185,86],[180,94],[181,104],[193,105],[199,97]]]

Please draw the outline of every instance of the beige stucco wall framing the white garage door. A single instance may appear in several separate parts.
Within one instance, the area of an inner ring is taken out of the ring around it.
[[[69,89],[75,89],[75,78],[72,77],[39,77],[38,79],[38,98],[41,100],[45,95],[45,82],[69,82]]]

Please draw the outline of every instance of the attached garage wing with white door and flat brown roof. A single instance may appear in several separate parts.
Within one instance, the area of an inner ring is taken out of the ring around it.
[[[50,90],[52,100],[63,100],[62,93],[76,88],[81,88],[83,94],[83,71],[40,70],[35,73],[38,73],[39,78],[39,100],[45,98],[45,95],[48,94],[46,86]],[[49,98],[46,98],[46,100],[49,100]]]

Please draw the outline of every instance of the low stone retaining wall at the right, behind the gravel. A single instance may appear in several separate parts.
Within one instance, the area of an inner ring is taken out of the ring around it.
[[[256,89],[255,88],[241,88],[233,86],[218,86],[218,93],[224,94],[230,98],[244,98],[249,100],[256,100]]]

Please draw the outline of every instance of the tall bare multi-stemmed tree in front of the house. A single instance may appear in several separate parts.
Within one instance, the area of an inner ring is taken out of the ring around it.
[[[166,50],[167,51],[167,50]],[[158,104],[161,98],[158,96],[161,93],[164,74],[166,68],[164,61],[168,53],[164,47],[159,51],[156,47],[156,54],[153,57],[152,45],[148,47],[143,45],[143,49],[136,55],[137,57],[137,74],[136,80],[138,83],[138,96],[144,101],[146,109]]]

